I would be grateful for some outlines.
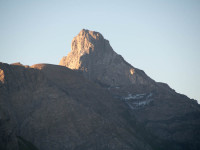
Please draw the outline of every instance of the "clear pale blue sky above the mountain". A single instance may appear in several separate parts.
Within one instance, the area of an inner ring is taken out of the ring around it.
[[[199,0],[0,0],[0,62],[58,64],[83,28],[200,103]]]

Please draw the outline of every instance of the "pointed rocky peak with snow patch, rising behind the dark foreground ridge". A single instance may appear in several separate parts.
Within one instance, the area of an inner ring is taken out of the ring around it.
[[[81,30],[60,65],[79,70],[129,106],[132,115],[168,149],[200,149],[200,106],[127,63],[95,31]]]

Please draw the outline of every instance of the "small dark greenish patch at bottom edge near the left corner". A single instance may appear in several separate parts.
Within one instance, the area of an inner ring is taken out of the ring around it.
[[[17,139],[19,150],[38,150],[38,148],[35,147],[31,142],[23,139],[22,137],[18,136]]]

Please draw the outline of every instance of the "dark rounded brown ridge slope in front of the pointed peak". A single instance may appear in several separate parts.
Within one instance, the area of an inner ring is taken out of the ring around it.
[[[0,133],[30,141],[40,150],[152,149],[136,130],[127,106],[105,89],[66,67],[38,64],[31,67],[0,64],[0,102],[14,122],[0,118]],[[142,129],[140,129],[142,130]],[[151,138],[150,136],[148,137]],[[4,149],[9,149],[3,147]]]

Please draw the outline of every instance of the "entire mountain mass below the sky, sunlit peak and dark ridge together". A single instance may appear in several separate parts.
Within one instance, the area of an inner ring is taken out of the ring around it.
[[[200,105],[81,30],[60,65],[0,63],[1,150],[199,150]]]

